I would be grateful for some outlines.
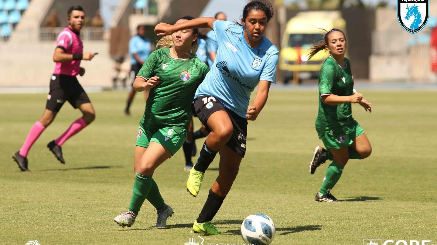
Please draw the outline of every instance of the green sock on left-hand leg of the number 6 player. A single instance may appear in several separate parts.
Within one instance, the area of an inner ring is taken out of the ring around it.
[[[152,176],[136,174],[131,204],[129,205],[129,210],[134,214],[138,214],[142,203],[146,200],[152,186],[152,181]]]

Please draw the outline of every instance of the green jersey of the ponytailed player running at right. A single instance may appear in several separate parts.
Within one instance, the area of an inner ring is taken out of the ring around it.
[[[326,132],[333,136],[344,136],[355,129],[355,120],[352,118],[351,103],[327,105],[322,102],[325,95],[352,95],[354,79],[350,71],[350,63],[344,58],[346,67],[342,68],[329,56],[319,72],[319,113],[316,119],[316,129],[322,139]]]

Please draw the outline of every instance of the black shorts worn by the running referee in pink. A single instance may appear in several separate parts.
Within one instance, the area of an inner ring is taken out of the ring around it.
[[[45,109],[59,112],[66,100],[74,109],[77,108],[76,104],[90,103],[90,98],[75,76],[53,74]]]

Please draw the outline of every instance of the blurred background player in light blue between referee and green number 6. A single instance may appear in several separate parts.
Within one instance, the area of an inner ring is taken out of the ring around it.
[[[129,54],[131,56],[131,74],[132,84],[135,80],[135,76],[142,67],[142,64],[146,61],[150,54],[150,40],[146,37],[147,27],[146,25],[139,25],[137,27],[137,34],[129,40]],[[132,87],[132,85],[131,85]],[[131,90],[128,95],[128,101],[126,103],[125,114],[130,115],[129,108],[131,107],[132,100],[135,96],[135,90]]]

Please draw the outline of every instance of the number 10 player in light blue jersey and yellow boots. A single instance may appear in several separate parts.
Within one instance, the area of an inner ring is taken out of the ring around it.
[[[247,3],[240,23],[201,17],[180,24],[160,23],[158,36],[189,28],[214,30],[218,41],[215,61],[194,96],[199,119],[211,132],[190,170],[187,190],[197,196],[205,170],[220,151],[218,177],[209,190],[193,230],[203,234],[221,234],[211,223],[236,179],[239,164],[246,152],[247,120],[257,119],[267,102],[271,83],[276,83],[279,58],[277,48],[264,37],[273,17],[270,3]],[[250,93],[258,85],[253,105]]]

